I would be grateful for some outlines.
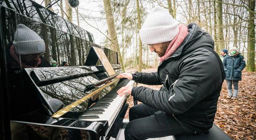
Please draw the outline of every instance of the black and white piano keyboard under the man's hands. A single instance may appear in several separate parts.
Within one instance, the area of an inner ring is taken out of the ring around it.
[[[113,90],[111,90],[107,95],[105,95],[101,100],[97,101],[92,107],[87,109],[83,115],[79,117],[79,120],[89,120],[89,121],[101,121],[107,120],[109,126],[112,125],[113,120],[115,120],[116,115],[121,109],[123,103],[125,102],[126,95],[119,96],[117,90],[124,86],[133,86],[134,81],[123,80],[119,83]]]

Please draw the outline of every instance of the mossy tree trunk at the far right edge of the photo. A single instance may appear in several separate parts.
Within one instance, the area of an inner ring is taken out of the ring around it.
[[[248,0],[248,6],[251,11],[255,11],[255,0]],[[255,15],[249,12],[248,20],[248,71],[255,71]]]

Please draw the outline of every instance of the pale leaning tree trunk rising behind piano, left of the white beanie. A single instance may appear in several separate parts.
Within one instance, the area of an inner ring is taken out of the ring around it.
[[[110,0],[103,0],[103,3],[104,3],[105,15],[106,15],[106,20],[108,25],[108,34],[109,34],[109,38],[111,39],[111,48],[117,51],[118,61],[122,65],[122,69],[125,70],[124,64],[122,62],[122,56],[120,53],[119,43],[118,43],[117,34],[116,34],[116,26],[115,26],[114,17],[112,14]]]

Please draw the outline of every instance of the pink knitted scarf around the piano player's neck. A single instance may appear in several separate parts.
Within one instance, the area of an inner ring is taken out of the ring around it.
[[[166,53],[164,54],[164,56],[160,57],[160,62],[163,62],[165,59],[170,57],[172,55],[172,53],[174,53],[175,50],[177,50],[177,48],[179,48],[179,46],[182,44],[182,42],[184,41],[186,36],[189,34],[188,27],[186,25],[183,25],[183,24],[179,25],[179,29],[180,29],[179,33],[170,42],[168,48],[166,49]]]

